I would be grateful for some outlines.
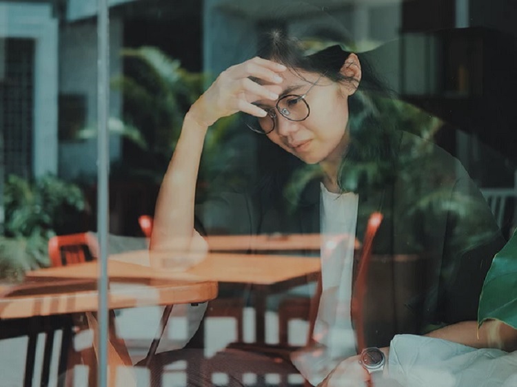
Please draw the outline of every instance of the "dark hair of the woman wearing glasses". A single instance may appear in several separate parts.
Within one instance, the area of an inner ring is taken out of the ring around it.
[[[321,74],[331,81],[354,83],[357,90],[348,98],[350,144],[341,163],[338,182],[343,191],[360,192],[372,187],[383,187],[392,180],[395,171],[393,128],[389,120],[381,120],[380,105],[392,98],[392,92],[377,76],[363,54],[357,54],[361,63],[361,81],[341,72],[345,59],[351,54],[334,44],[316,52],[307,53],[302,41],[287,36],[280,30],[263,35],[259,43],[259,56],[283,63],[288,68]],[[300,75],[301,76],[301,75]],[[282,152],[286,154],[287,152]],[[274,158],[268,157],[270,160]],[[287,156],[290,158],[290,156]],[[296,161],[281,163],[286,174],[292,175],[291,166]],[[301,163],[298,163],[298,167]],[[278,176],[278,174],[277,174]]]

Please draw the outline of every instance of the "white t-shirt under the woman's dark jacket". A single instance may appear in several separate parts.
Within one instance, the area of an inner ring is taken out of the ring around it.
[[[322,293],[313,335],[318,344],[292,356],[314,386],[338,362],[356,355],[350,302],[358,201],[356,193],[332,193],[321,185]]]

